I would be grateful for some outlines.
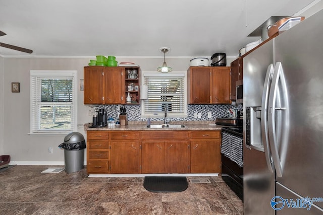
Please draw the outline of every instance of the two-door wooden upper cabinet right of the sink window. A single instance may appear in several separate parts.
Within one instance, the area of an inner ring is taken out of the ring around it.
[[[230,67],[191,66],[188,88],[189,104],[231,104]]]

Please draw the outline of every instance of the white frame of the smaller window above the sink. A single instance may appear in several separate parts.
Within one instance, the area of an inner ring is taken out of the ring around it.
[[[172,113],[168,112],[168,117],[187,117],[187,71],[172,71],[171,73],[158,73],[157,71],[143,71],[141,75],[141,85],[145,83],[145,77],[183,77],[184,79],[184,86],[183,86],[183,93],[184,93],[184,103],[183,103],[183,112],[182,113]],[[141,94],[145,94],[143,92],[140,92]],[[149,95],[149,94],[148,94]],[[141,117],[151,117],[151,118],[160,118],[165,117],[164,112],[156,112],[156,113],[146,113],[145,112],[145,102],[146,100],[141,100]]]

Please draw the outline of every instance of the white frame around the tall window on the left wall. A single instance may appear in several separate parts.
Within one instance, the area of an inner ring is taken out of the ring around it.
[[[37,101],[33,98],[33,95],[37,86],[33,85],[33,80],[36,77],[73,77],[73,122],[71,124],[71,129],[65,130],[40,130],[36,128],[39,124]],[[76,70],[30,70],[30,135],[65,135],[72,131],[77,130],[77,71]],[[36,110],[34,110],[36,109]]]

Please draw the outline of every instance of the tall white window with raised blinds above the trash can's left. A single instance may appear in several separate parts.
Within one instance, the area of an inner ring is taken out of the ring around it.
[[[77,71],[30,72],[31,133],[76,130]]]

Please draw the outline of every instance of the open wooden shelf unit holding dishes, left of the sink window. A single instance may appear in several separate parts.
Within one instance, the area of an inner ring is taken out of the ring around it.
[[[125,98],[127,105],[140,104],[140,67],[125,66]]]

